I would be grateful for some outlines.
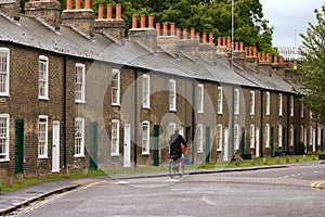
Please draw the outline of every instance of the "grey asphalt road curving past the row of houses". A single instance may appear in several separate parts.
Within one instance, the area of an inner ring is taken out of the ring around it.
[[[324,216],[325,165],[104,180],[53,195],[17,216]]]

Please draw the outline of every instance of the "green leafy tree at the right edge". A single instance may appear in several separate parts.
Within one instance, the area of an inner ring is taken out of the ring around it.
[[[313,112],[314,120],[325,124],[325,4],[314,11],[316,24],[309,23],[307,35],[300,34],[302,47],[299,49],[302,61],[301,100]]]

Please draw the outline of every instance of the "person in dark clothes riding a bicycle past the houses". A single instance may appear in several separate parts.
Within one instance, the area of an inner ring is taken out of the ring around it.
[[[180,130],[176,128],[173,135],[170,136],[169,145],[170,153],[169,155],[173,157],[173,161],[177,161],[182,157],[182,145],[187,148],[187,143],[184,138],[179,135]],[[179,162],[179,169],[181,169],[181,161]]]

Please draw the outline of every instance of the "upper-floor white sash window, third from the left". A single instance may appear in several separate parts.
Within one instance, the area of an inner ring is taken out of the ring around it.
[[[81,69],[81,72],[79,72]],[[79,73],[81,75],[79,75]],[[76,63],[76,103],[86,102],[86,66],[81,63]]]

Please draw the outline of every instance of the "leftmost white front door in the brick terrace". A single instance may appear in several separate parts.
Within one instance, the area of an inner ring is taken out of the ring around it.
[[[60,171],[60,122],[53,122],[52,173]]]

